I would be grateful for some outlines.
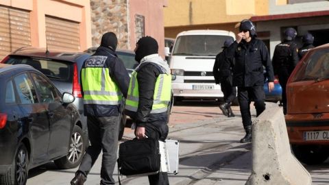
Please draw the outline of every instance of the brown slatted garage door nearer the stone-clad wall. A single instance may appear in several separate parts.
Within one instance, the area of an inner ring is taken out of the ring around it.
[[[46,16],[48,49],[80,50],[79,23]]]

